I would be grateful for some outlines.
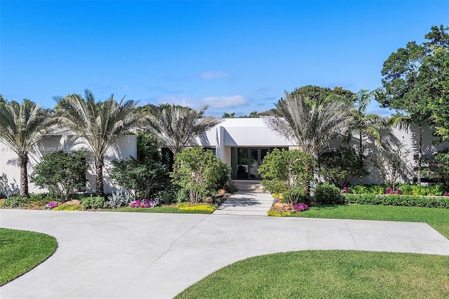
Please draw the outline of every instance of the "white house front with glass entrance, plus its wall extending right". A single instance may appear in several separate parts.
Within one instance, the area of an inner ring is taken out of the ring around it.
[[[413,170],[417,165],[417,131],[416,126],[412,126],[409,131],[394,129],[393,134],[397,142],[401,143],[399,150],[403,152],[406,163]],[[422,132],[422,151],[424,158],[431,158],[444,148],[449,147],[448,142],[436,145],[436,138],[429,127]],[[262,118],[248,119],[223,119],[220,124],[211,128],[206,134],[196,140],[202,147],[209,147],[215,150],[218,158],[228,164],[231,168],[231,178],[237,179],[258,179],[258,166],[262,164],[265,155],[274,148],[284,148],[292,150],[295,145],[272,131]],[[339,147],[341,140],[335,140],[332,147]],[[377,152],[375,145],[366,140],[366,147],[370,152]],[[384,179],[373,164],[368,164],[370,175],[363,180],[366,184],[382,184]],[[405,181],[413,182],[416,177],[405,178]],[[354,181],[354,183],[357,183]]]

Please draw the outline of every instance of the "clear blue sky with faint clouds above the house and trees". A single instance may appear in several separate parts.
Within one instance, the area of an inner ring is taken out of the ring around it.
[[[0,17],[4,98],[53,107],[89,88],[221,117],[309,84],[379,87],[392,52],[449,25],[449,1],[1,0]]]

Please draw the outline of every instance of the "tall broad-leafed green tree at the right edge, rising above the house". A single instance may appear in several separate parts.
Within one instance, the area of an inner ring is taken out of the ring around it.
[[[398,48],[389,55],[381,72],[384,93],[377,97],[382,107],[398,109],[399,114],[406,113],[406,116],[391,119],[392,124],[406,128],[415,124],[418,127],[418,183],[421,182],[423,126],[431,123],[434,117],[441,123],[440,135],[443,138],[447,135],[449,139],[449,134],[444,133],[445,128],[449,129],[448,27],[433,26],[425,37],[429,42],[419,45],[410,41],[406,48]]]

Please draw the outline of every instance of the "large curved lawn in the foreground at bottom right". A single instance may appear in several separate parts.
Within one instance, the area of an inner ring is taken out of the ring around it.
[[[175,298],[449,298],[449,257],[298,251],[241,260]]]

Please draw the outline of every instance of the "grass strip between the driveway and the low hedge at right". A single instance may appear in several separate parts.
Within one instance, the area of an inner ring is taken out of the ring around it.
[[[449,239],[448,208],[342,204],[335,206],[311,207],[307,211],[292,213],[290,216],[307,218],[427,222],[427,224],[434,227],[435,230],[438,230],[438,232]]]

